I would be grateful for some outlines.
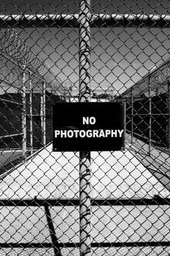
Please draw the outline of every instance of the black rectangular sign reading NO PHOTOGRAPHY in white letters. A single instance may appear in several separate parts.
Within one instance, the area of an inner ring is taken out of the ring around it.
[[[122,103],[55,103],[53,151],[106,151],[125,147]]]

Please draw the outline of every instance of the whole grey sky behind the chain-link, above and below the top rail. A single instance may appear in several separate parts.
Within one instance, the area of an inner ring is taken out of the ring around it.
[[[1,0],[1,14],[78,13],[79,1]],[[169,0],[91,0],[91,13],[169,14]],[[79,88],[79,31],[71,28],[17,29],[53,72]],[[169,29],[91,28],[91,85],[122,93],[152,67],[169,58]]]

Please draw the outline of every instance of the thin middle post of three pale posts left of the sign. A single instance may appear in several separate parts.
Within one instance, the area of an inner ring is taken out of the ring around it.
[[[33,153],[33,119],[32,119],[32,78],[30,74],[30,148],[31,155]]]

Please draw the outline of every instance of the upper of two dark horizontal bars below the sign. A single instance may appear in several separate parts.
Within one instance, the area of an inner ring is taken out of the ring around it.
[[[60,200],[0,200],[0,207],[9,207],[9,206],[35,206],[42,207],[45,205],[49,206],[79,206],[79,199],[60,199]],[[161,198],[161,197],[153,197],[142,198],[142,199],[94,199],[91,200],[92,206],[115,206],[115,205],[170,205],[170,198]]]

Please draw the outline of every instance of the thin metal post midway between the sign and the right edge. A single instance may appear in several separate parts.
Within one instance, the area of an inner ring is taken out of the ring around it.
[[[148,153],[151,153],[151,142],[152,142],[152,99],[151,99],[151,74],[149,75],[149,84],[148,84],[148,101],[149,101],[149,135],[148,135]]]

